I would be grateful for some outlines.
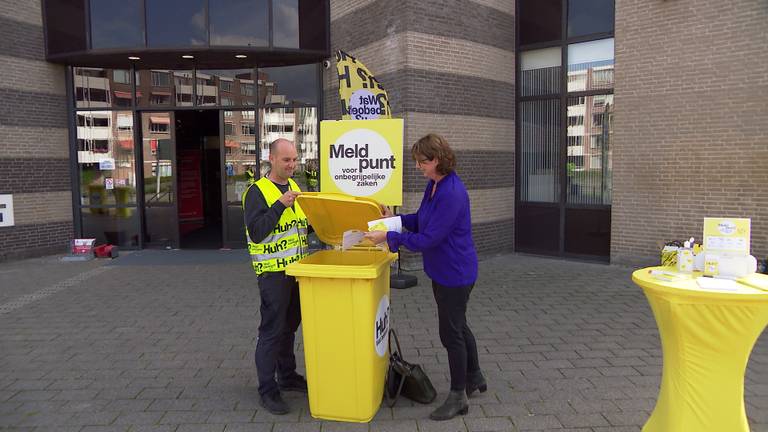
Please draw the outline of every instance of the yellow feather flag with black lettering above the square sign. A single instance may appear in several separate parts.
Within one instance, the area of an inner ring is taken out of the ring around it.
[[[365,65],[339,50],[336,52],[336,70],[343,120],[392,118],[387,92]]]

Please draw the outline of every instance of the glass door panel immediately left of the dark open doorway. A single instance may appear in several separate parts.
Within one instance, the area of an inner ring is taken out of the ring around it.
[[[144,168],[144,244],[149,248],[179,247],[174,115],[141,114]]]

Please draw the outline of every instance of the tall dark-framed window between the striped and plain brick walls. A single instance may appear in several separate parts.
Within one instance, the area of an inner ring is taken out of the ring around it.
[[[610,254],[614,2],[515,2],[518,250]]]

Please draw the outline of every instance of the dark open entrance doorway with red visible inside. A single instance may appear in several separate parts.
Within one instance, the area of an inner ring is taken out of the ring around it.
[[[222,246],[219,112],[176,112],[179,247]]]

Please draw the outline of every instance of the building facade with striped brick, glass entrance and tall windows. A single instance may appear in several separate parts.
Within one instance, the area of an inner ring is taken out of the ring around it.
[[[73,237],[241,246],[245,170],[287,137],[301,182],[341,117],[337,49],[386,88],[405,155],[448,138],[483,255],[650,263],[728,216],[764,258],[766,18],[748,0],[9,0],[0,259]],[[414,210],[408,163],[403,187]]]

